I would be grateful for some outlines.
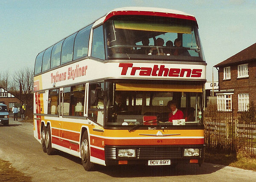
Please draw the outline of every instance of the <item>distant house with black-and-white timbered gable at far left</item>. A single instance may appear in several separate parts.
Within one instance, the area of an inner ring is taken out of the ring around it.
[[[20,105],[20,100],[10,92],[0,87],[0,103],[7,105],[8,110],[12,111],[13,105]]]

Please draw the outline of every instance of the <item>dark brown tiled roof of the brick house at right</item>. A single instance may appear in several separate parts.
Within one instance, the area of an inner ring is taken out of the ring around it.
[[[250,47],[245,48],[239,53],[233,55],[227,60],[224,60],[221,63],[218,63],[217,65],[215,65],[215,67],[222,67],[224,65],[231,65],[234,63],[244,62],[246,60],[253,60],[253,59],[256,59],[256,43],[254,43]]]

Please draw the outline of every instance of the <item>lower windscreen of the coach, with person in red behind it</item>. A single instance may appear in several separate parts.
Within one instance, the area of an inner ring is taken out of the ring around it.
[[[202,85],[107,82],[106,86],[108,126],[202,125]]]

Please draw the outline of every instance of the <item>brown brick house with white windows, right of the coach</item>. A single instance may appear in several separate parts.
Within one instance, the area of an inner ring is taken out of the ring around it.
[[[215,65],[218,69],[218,111],[247,111],[256,104],[256,43]]]

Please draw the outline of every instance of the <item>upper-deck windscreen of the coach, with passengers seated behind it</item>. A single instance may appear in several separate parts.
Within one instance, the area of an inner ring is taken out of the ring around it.
[[[107,60],[204,62],[195,21],[153,16],[115,16],[105,22]]]

